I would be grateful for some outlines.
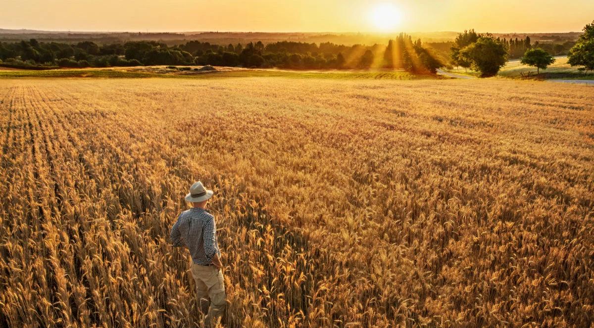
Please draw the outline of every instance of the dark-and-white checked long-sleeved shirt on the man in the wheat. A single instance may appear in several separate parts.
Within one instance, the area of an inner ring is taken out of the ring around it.
[[[179,215],[170,238],[173,247],[188,248],[194,263],[208,266],[213,263],[214,253],[221,254],[216,232],[214,216],[205,209],[192,207]]]

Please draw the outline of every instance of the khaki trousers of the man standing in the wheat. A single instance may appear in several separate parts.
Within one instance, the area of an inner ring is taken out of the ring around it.
[[[200,304],[200,311],[206,313],[205,326],[216,323],[218,318],[225,314],[225,280],[222,270],[215,266],[201,266],[192,263],[192,277],[196,282],[196,295]],[[210,298],[210,307],[208,306]],[[208,312],[207,312],[208,311]]]

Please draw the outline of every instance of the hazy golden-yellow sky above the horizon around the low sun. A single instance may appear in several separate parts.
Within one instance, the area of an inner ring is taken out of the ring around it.
[[[378,22],[386,4],[394,19]],[[4,29],[564,32],[592,20],[594,0],[0,0]]]

